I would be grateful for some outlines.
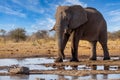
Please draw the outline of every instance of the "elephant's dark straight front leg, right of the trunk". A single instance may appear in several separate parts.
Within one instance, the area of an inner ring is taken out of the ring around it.
[[[71,40],[71,53],[72,53],[72,58],[71,62],[75,61],[78,62],[78,43],[79,43],[79,38],[76,36],[77,34],[73,32],[72,34],[72,40]]]

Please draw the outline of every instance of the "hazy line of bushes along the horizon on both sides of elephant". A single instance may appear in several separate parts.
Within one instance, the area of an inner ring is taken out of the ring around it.
[[[27,35],[26,30],[23,28],[16,28],[9,32],[4,29],[0,29],[0,39],[3,39],[4,42],[11,40],[14,42],[20,41],[35,41],[38,39],[55,39],[55,34],[53,36],[49,35],[47,30],[38,30],[31,35]],[[120,30],[115,32],[108,32],[108,39],[115,40],[120,39]]]

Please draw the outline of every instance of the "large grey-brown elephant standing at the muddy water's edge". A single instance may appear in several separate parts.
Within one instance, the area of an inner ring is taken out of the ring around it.
[[[103,15],[95,8],[83,8],[80,5],[58,6],[55,14],[56,22],[52,30],[56,31],[58,57],[55,62],[63,62],[64,49],[71,36],[71,62],[78,62],[78,44],[87,40],[91,44],[90,60],[97,60],[96,43],[103,48],[103,60],[109,60],[107,47],[107,24]]]

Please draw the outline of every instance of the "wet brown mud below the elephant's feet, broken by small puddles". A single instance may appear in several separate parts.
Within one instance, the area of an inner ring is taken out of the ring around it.
[[[96,75],[96,74],[120,74],[120,60],[80,60],[80,62],[68,62],[64,61],[62,63],[48,63],[48,64],[34,64],[34,65],[44,65],[46,67],[52,67],[52,70],[30,70],[30,74],[56,74],[56,75],[67,75],[67,76],[86,76],[86,75]],[[79,67],[79,66],[84,67]],[[15,65],[14,65],[15,66]],[[12,66],[0,66],[0,69],[13,68]],[[98,66],[102,66],[103,69],[98,69]],[[65,67],[69,67],[68,69]],[[0,75],[18,75],[10,73],[0,73]]]

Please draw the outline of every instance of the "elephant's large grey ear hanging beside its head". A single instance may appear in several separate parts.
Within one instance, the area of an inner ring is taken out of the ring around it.
[[[87,22],[87,13],[80,5],[71,6],[69,9],[71,14],[69,28],[75,29]]]

